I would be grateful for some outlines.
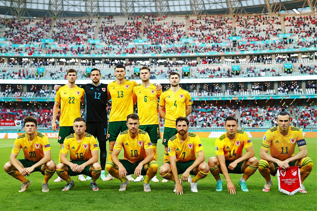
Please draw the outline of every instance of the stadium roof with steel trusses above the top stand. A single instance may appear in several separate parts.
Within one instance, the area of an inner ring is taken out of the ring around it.
[[[0,0],[0,14],[15,17],[135,14],[252,14],[310,7],[317,0]]]

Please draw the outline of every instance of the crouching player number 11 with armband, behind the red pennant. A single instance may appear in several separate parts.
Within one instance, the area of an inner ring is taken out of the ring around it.
[[[299,166],[301,169],[300,193],[307,193],[303,185],[304,180],[312,172],[313,160],[307,157],[306,142],[303,132],[298,127],[290,126],[290,115],[282,110],[277,114],[277,127],[266,131],[260,150],[259,171],[265,179],[264,192],[268,192],[272,186],[270,174],[275,176],[277,168],[288,169],[289,166]],[[299,153],[294,154],[295,146]],[[268,150],[270,155],[267,154]]]

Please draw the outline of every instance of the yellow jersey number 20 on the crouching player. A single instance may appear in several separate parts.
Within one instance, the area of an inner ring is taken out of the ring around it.
[[[44,152],[51,151],[48,137],[40,132],[36,132],[36,136],[31,142],[29,142],[26,133],[18,136],[14,141],[11,153],[19,154],[21,148],[24,158],[31,161],[39,161],[44,158]]]

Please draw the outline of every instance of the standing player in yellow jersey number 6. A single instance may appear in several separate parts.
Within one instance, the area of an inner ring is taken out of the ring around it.
[[[146,131],[151,139],[153,145],[154,160],[158,160],[157,143],[160,139],[159,132],[159,115],[158,102],[162,91],[156,90],[156,86],[150,83],[150,68],[143,66],[140,68],[140,78],[142,84],[133,88],[133,100],[138,103],[138,115],[140,117],[140,129]],[[134,181],[139,182],[143,180],[140,175]],[[154,182],[159,182],[157,176],[152,179]]]

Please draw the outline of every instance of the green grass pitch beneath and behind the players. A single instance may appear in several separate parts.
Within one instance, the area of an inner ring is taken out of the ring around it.
[[[206,162],[215,155],[214,140],[203,138]],[[261,138],[253,138],[256,157],[260,159]],[[308,156],[316,165],[317,143],[316,138],[306,138]],[[0,165],[3,166],[9,160],[13,139],[0,141]],[[56,139],[50,139],[52,146],[52,159],[57,160],[59,146]],[[160,141],[159,141],[160,143]],[[107,147],[108,148],[108,147]],[[297,151],[298,152],[298,149]],[[120,153],[122,156],[123,153]],[[162,164],[163,146],[158,144],[159,166]],[[20,152],[18,158],[23,158]],[[42,193],[43,176],[39,172],[32,173],[28,179],[32,185],[24,193],[18,193],[20,182],[7,175],[3,168],[0,171],[1,210],[317,210],[317,180],[316,166],[306,179],[304,185],[308,194],[296,193],[287,196],[278,191],[277,178],[272,177],[273,186],[268,193],[262,192],[264,178],[257,171],[247,181],[248,193],[241,191],[238,181],[242,175],[230,174],[236,185],[237,194],[230,195],[227,192],[226,182],[222,192],[215,191],[215,180],[211,174],[207,178],[198,181],[198,193],[192,193],[188,183],[183,184],[184,195],[175,195],[174,183],[150,182],[152,191],[145,193],[142,182],[130,182],[125,192],[119,192],[120,181],[117,179],[104,182],[98,180],[100,191],[93,192],[89,181],[81,182],[76,177],[75,187],[67,192],[61,192],[65,182],[49,182],[50,192]],[[159,180],[162,178],[157,174]],[[224,177],[221,175],[221,178]]]

